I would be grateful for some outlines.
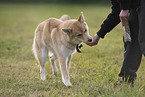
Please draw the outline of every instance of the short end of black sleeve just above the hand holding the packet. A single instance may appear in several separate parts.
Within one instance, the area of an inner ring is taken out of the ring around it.
[[[129,9],[131,7],[131,2],[133,1],[135,0],[118,0],[118,2],[120,3],[120,8],[123,10]]]

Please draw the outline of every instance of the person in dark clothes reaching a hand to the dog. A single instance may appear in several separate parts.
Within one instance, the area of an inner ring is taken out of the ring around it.
[[[119,77],[133,85],[137,77],[136,72],[141,64],[142,54],[145,54],[145,0],[111,0],[111,4],[111,13],[104,20],[97,34],[94,35],[92,42],[87,45],[97,45],[100,38],[104,38],[120,23],[120,18],[127,19],[132,43],[126,44],[124,42],[124,60]]]

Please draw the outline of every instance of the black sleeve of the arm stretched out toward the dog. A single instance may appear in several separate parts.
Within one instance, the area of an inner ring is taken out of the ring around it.
[[[112,11],[108,15],[108,17],[104,20],[101,25],[100,30],[97,32],[98,36],[104,38],[104,36],[110,32],[117,24],[120,23],[119,13],[120,6],[117,0],[111,0],[112,3]]]

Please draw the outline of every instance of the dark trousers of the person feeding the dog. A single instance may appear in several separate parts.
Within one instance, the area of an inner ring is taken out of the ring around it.
[[[132,43],[124,43],[124,60],[119,76],[135,79],[142,54],[145,54],[145,0],[141,0],[138,11],[135,9],[130,11],[129,26]]]

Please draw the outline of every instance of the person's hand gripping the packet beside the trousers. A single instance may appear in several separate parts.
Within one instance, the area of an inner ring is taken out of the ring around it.
[[[124,22],[129,19],[129,10],[121,10],[119,17],[121,22],[124,24]]]

